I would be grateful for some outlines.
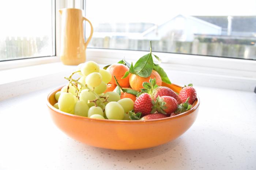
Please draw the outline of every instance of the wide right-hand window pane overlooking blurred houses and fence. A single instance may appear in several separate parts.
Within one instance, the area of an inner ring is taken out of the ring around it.
[[[151,40],[153,51],[256,60],[255,9],[255,0],[86,0],[89,47],[148,51]]]

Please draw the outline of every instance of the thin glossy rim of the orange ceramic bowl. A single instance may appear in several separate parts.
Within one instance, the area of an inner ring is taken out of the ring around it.
[[[174,84],[172,83],[173,85],[176,85],[176,86],[179,86],[177,84]],[[53,107],[52,104],[50,104],[49,102],[49,98],[50,96],[60,90],[63,86],[59,87],[59,88],[56,88],[54,89],[53,91],[51,91],[48,96],[47,96],[47,102],[46,102],[46,105],[53,111],[55,111],[56,113],[58,114],[63,114],[63,115],[66,115],[66,116],[71,116],[72,118],[77,118],[77,119],[83,119],[83,120],[89,120],[89,121],[93,121],[93,122],[105,122],[105,123],[152,123],[152,122],[166,122],[166,121],[169,121],[169,120],[172,120],[172,119],[177,119],[177,118],[180,118],[180,117],[183,117],[183,116],[186,116],[186,115],[189,115],[189,114],[192,114],[193,111],[195,111],[198,107],[199,107],[199,104],[200,104],[200,99],[198,97],[198,95],[196,95],[196,104],[195,106],[193,106],[190,110],[188,111],[185,111],[181,114],[178,114],[178,115],[175,115],[175,116],[172,116],[172,117],[167,117],[167,118],[161,118],[161,119],[152,119],[152,120],[113,120],[113,119],[94,119],[94,118],[88,118],[88,117],[84,117],[84,116],[79,116],[79,115],[74,115],[74,114],[70,114],[70,113],[66,113],[66,112],[63,112],[61,110],[58,110],[57,108]],[[181,86],[179,86],[181,87]],[[195,103],[194,102],[194,103]]]

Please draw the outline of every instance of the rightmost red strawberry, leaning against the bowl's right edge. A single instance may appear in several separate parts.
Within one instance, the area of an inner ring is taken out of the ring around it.
[[[188,86],[185,86],[181,89],[180,94],[178,96],[182,100],[182,103],[185,103],[188,97],[189,97],[189,101],[188,101],[189,104],[193,104],[195,102],[196,90],[192,86],[193,84],[188,84]]]

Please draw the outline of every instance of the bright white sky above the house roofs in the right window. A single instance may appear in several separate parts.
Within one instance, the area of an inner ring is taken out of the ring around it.
[[[161,24],[183,15],[256,15],[256,0],[86,0],[86,17],[94,23]]]

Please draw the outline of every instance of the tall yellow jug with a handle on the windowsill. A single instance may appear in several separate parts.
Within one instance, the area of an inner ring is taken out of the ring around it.
[[[93,36],[91,22],[83,17],[81,9],[59,9],[61,14],[60,59],[65,65],[78,65],[86,60],[86,47]],[[87,42],[84,41],[83,21],[91,26]]]

